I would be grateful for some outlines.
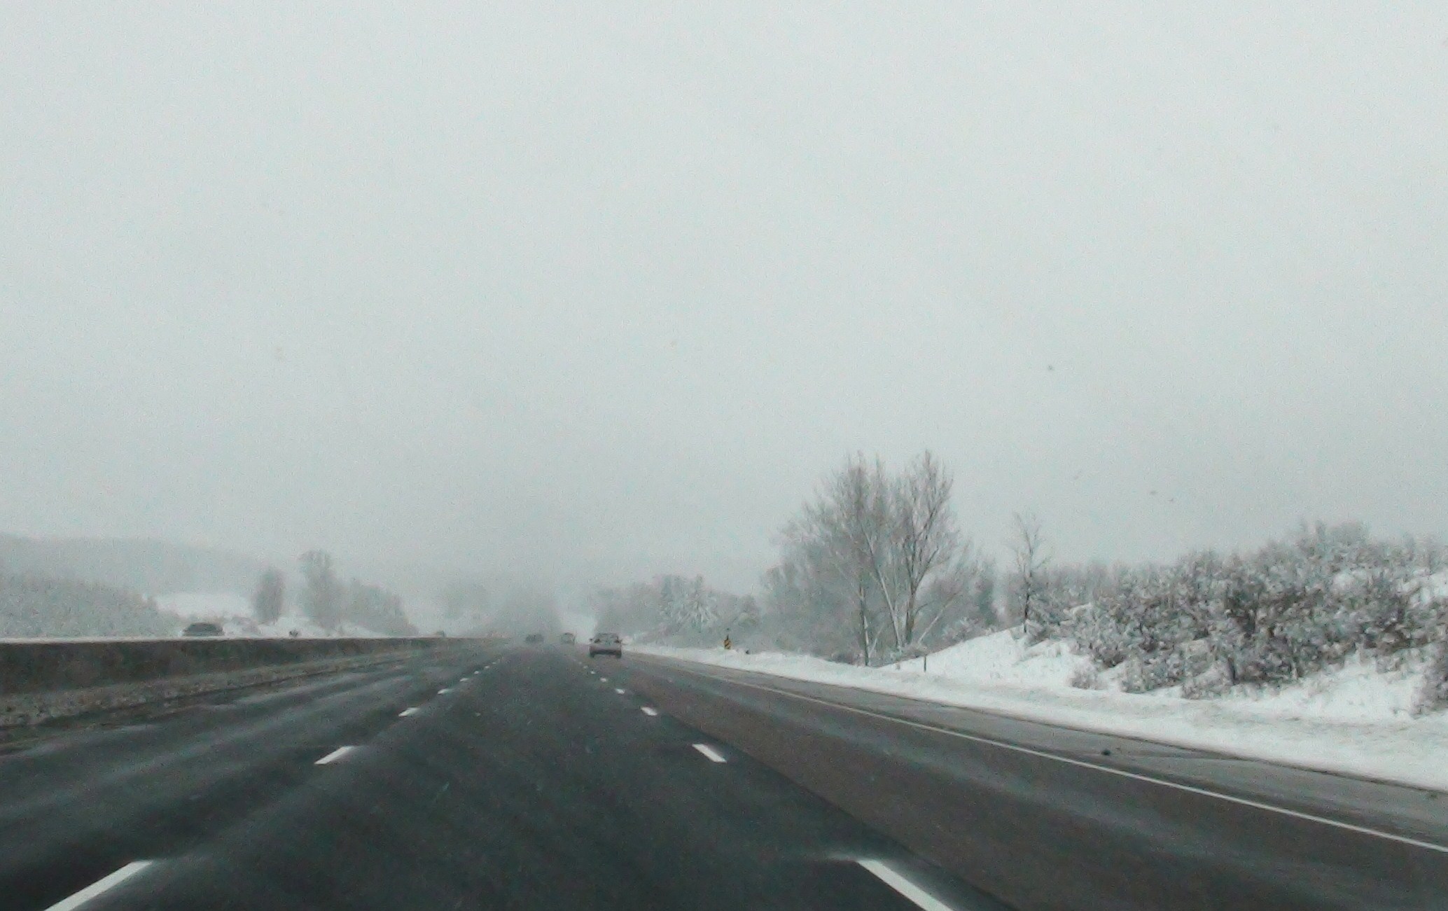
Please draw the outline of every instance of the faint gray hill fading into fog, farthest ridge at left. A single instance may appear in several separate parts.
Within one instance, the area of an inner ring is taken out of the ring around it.
[[[159,540],[0,534],[0,572],[98,582],[148,595],[249,594],[265,568],[240,553]]]

